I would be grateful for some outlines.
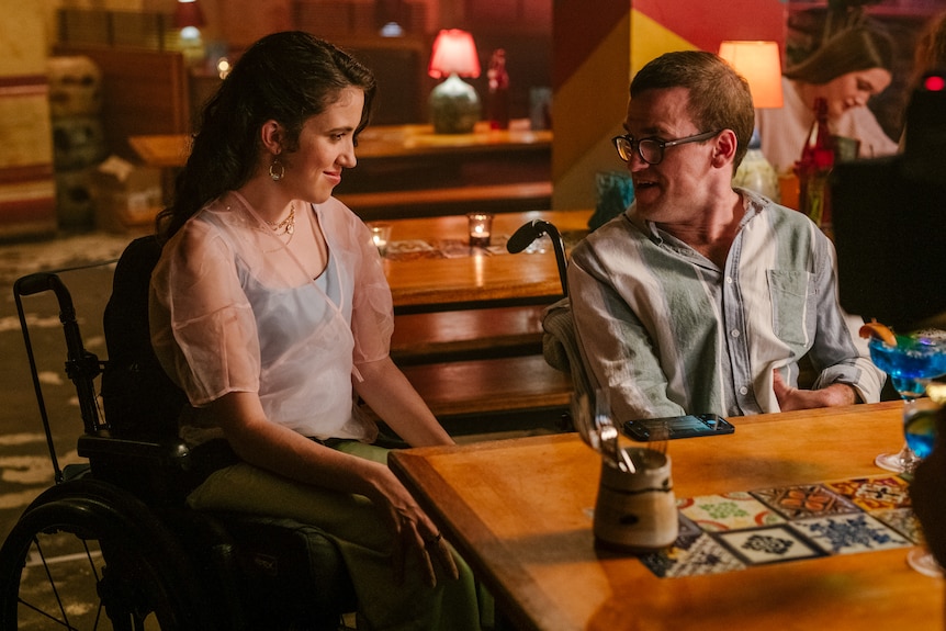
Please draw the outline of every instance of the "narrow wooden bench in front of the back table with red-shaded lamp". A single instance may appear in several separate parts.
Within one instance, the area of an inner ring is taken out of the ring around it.
[[[552,207],[552,182],[338,193],[337,196],[365,222],[463,215],[472,211],[515,213]]]

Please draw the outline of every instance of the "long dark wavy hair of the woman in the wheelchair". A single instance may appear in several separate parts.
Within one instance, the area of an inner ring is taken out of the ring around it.
[[[172,204],[158,215],[158,234],[170,238],[209,202],[247,182],[266,121],[275,120],[286,129],[286,150],[294,151],[305,121],[351,87],[364,92],[357,137],[368,125],[374,100],[371,70],[302,31],[274,33],[256,42],[204,106],[190,157],[174,182]]]

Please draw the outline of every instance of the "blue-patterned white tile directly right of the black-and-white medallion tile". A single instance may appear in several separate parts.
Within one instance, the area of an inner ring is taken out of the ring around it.
[[[831,554],[852,554],[913,545],[902,534],[866,512],[792,521],[791,527]]]

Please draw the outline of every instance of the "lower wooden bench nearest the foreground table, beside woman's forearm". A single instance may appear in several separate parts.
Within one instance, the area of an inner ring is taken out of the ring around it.
[[[541,354],[408,365],[403,369],[451,435],[562,431],[571,378]]]

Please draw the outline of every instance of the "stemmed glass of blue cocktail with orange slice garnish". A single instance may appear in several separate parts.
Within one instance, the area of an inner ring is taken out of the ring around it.
[[[924,396],[931,380],[946,374],[946,337],[933,335],[898,335],[897,346],[871,338],[868,342],[874,364],[890,375],[900,398],[904,401],[904,422],[910,402]],[[916,466],[916,454],[904,442],[898,453],[881,453],[874,462],[877,466],[897,473]]]

